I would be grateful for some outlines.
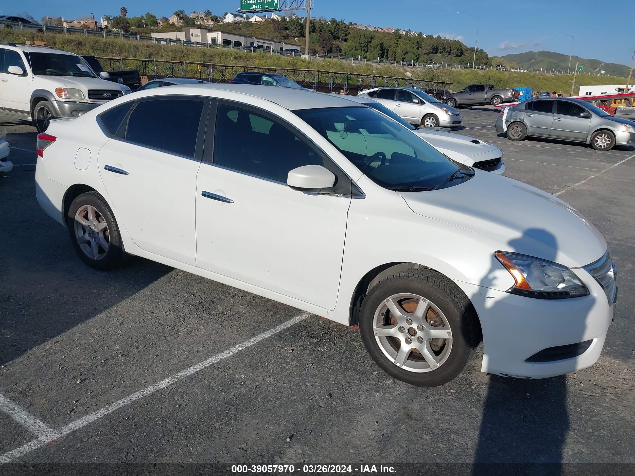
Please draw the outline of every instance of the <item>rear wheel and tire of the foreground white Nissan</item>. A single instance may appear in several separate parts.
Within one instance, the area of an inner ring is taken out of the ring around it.
[[[94,190],[78,195],[70,204],[66,224],[73,248],[86,265],[100,271],[121,266],[124,250],[119,226],[102,195]]]

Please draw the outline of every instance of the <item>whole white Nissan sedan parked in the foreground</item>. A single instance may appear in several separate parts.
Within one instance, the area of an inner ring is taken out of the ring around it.
[[[142,256],[359,326],[413,385],[481,341],[483,372],[582,369],[613,319],[606,241],[572,206],[337,95],[143,91],[52,121],[37,154],[37,200],[90,267]]]

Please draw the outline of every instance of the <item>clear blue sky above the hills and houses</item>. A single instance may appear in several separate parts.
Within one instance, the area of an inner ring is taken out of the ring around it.
[[[598,58],[610,63],[631,65],[635,50],[635,35],[629,22],[622,27],[608,17],[598,17],[598,3],[592,0],[314,0],[312,16],[335,17],[346,22],[398,27],[458,38],[474,46],[476,25],[479,25],[478,46],[490,55],[549,50],[569,54],[571,38],[575,37],[573,54],[583,58]],[[0,5],[3,15],[27,11],[39,20],[43,15],[64,18],[118,15],[125,6],[129,16],[150,11],[161,17],[175,10],[206,10],[222,15],[239,8],[239,0],[23,0],[16,9],[13,2]],[[17,4],[17,3],[15,3]],[[480,20],[465,14],[480,17]],[[516,19],[514,19],[516,18]],[[599,23],[598,23],[599,21]]]

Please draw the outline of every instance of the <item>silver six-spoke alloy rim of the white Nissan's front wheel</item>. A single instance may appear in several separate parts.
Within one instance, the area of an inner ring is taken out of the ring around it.
[[[418,294],[385,298],[375,311],[373,333],[387,359],[410,372],[437,369],[452,350],[452,330],[445,315]]]

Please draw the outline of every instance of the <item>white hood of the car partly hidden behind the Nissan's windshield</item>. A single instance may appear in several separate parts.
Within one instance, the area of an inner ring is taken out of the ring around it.
[[[498,159],[503,155],[502,150],[495,145],[474,137],[424,128],[415,129],[413,132],[450,159],[467,166],[472,166],[474,162]]]

